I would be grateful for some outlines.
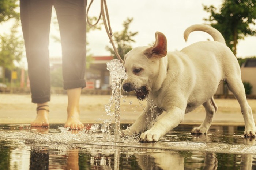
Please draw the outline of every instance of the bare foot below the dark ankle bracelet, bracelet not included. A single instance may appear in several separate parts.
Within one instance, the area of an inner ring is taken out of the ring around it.
[[[48,111],[38,110],[37,118],[30,124],[31,127],[49,127]]]

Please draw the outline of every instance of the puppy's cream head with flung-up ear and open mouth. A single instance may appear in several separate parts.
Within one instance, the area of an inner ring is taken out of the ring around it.
[[[136,47],[129,51],[123,65],[128,77],[123,81],[125,92],[135,90],[139,100],[147,97],[154,90],[155,80],[159,74],[159,60],[167,54],[167,40],[161,32],[155,33],[152,47]]]

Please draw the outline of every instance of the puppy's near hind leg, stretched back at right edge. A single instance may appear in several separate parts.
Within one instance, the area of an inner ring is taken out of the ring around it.
[[[226,82],[227,82],[227,87],[234,94],[234,96],[238,100],[238,103],[240,104],[241,112],[244,117],[244,123],[245,123],[244,136],[255,137],[256,127],[255,127],[255,123],[252,115],[252,109],[246,100],[244,85],[242,83],[241,78],[238,76],[233,76],[227,79]]]

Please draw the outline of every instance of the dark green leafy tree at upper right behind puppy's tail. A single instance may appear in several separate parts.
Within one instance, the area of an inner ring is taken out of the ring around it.
[[[222,33],[234,55],[239,39],[256,35],[256,30],[250,27],[256,25],[256,0],[223,0],[221,9],[211,5],[204,6],[204,10],[211,14],[204,20]]]

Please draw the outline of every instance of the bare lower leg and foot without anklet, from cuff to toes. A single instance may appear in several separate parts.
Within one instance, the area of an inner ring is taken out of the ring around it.
[[[68,112],[68,119],[67,122],[65,123],[64,127],[69,127],[70,129],[83,129],[84,125],[82,122],[80,122],[79,119],[79,100],[81,96],[81,88],[73,88],[73,89],[68,89],[67,94],[68,94],[68,107],[67,107],[67,112]]]

